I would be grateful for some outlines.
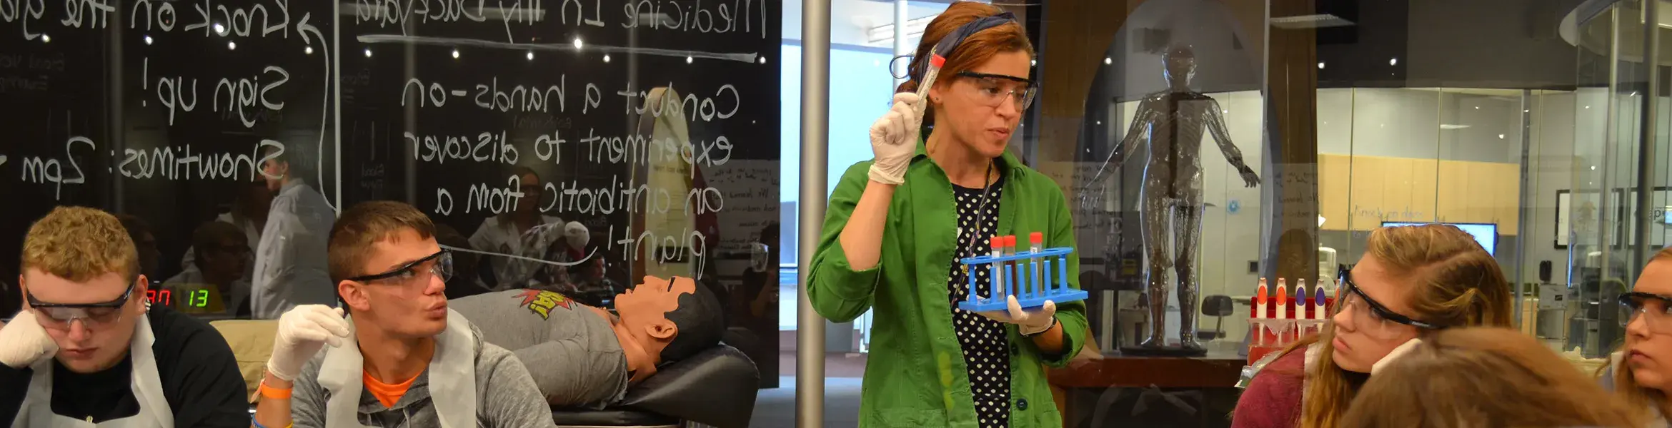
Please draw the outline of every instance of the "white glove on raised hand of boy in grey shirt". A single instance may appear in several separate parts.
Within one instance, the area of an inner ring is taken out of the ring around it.
[[[296,306],[279,316],[279,333],[273,338],[268,373],[279,380],[294,380],[319,348],[343,346],[346,341],[348,319],[343,319],[343,309],[324,304]]]

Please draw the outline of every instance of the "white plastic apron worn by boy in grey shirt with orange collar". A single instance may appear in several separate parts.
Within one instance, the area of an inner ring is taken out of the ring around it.
[[[354,318],[348,319],[349,328]],[[364,356],[353,341],[326,348],[319,364],[319,386],[329,391],[324,405],[324,426],[364,426],[359,423],[359,395],[364,391],[361,374]],[[465,316],[446,309],[446,329],[435,338],[435,356],[430,358],[430,405],[443,428],[477,426],[477,338]]]

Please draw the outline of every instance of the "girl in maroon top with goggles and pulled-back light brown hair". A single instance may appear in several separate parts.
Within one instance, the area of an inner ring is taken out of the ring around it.
[[[1371,231],[1364,256],[1341,274],[1336,313],[1264,364],[1234,428],[1334,428],[1371,368],[1445,328],[1511,323],[1510,284],[1475,239],[1455,226]]]

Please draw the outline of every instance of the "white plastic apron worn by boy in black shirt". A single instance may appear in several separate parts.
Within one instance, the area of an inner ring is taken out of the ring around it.
[[[52,413],[52,359],[37,361],[30,369],[35,374],[28,381],[28,395],[17,410],[12,426],[45,426],[45,428],[150,428],[174,426],[174,410],[162,396],[162,376],[157,374],[157,358],[150,351],[155,336],[150,333],[150,319],[144,314],[134,326],[134,339],[129,341],[129,356],[134,359],[132,380],[134,398],[139,400],[139,415],[90,423],[70,416]]]

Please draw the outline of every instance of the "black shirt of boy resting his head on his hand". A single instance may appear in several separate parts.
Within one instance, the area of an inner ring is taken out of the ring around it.
[[[20,314],[27,316],[27,314]],[[150,319],[162,378],[162,396],[174,411],[174,426],[249,426],[244,378],[221,333],[201,319],[154,306]],[[139,415],[129,386],[132,356],[89,374],[52,363],[52,413],[94,423]],[[28,393],[32,369],[0,364],[0,425],[10,425]]]

